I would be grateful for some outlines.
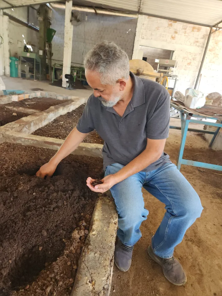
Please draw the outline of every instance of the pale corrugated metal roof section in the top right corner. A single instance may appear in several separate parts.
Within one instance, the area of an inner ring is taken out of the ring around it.
[[[222,20],[220,0],[143,0],[141,13],[214,25]]]

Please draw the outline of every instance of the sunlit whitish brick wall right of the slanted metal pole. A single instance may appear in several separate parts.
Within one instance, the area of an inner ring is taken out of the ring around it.
[[[208,51],[201,71],[199,90],[209,94],[222,94],[222,31],[211,35]]]

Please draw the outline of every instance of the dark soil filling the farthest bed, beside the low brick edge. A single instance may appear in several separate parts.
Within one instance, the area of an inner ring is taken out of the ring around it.
[[[39,111],[44,111],[51,106],[59,105],[67,102],[68,100],[56,100],[53,98],[31,98],[21,100],[19,102],[11,102],[9,104],[5,104],[5,107],[22,107],[28,109],[34,109]],[[15,112],[15,111],[14,111]]]

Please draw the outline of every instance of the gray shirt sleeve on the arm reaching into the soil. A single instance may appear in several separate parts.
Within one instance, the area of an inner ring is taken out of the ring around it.
[[[80,133],[90,133],[95,129],[94,123],[93,123],[93,117],[90,111],[90,98],[86,103],[82,116],[80,117],[76,125],[76,128]]]

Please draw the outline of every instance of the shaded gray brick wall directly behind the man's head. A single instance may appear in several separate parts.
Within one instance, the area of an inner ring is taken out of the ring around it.
[[[85,20],[86,14],[87,20]],[[131,59],[136,18],[96,15],[95,13],[84,12],[81,12],[81,17],[81,22],[73,22],[72,63],[82,64],[86,52],[94,44],[103,40],[116,42],[127,52],[129,59]],[[63,60],[64,18],[65,10],[52,10],[51,28],[56,30],[52,40],[53,62]]]

